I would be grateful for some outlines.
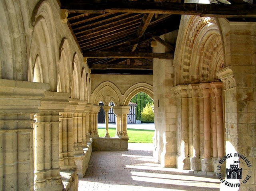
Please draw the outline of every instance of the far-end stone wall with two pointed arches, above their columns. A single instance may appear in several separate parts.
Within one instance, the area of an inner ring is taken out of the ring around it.
[[[91,100],[94,105],[100,101],[108,105],[111,101],[116,106],[128,105],[140,92],[153,98],[152,75],[91,75]]]

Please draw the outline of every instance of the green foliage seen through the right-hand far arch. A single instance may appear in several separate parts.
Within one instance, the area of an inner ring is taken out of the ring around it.
[[[148,96],[145,93],[138,93],[136,96],[134,96],[131,99],[131,102],[134,102],[136,104],[138,104],[138,106],[136,107],[136,120],[141,120],[141,112],[142,109],[149,103],[153,103],[153,100],[150,96]]]

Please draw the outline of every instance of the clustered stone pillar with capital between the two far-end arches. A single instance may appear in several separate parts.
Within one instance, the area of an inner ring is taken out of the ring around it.
[[[118,122],[116,122],[118,132],[118,138],[128,139],[127,134],[127,114],[129,113],[130,106],[114,106],[114,113]],[[119,126],[119,129],[118,129]]]

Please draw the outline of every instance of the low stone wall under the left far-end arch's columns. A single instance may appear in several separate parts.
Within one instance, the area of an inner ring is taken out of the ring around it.
[[[128,139],[94,137],[92,151],[127,151]]]

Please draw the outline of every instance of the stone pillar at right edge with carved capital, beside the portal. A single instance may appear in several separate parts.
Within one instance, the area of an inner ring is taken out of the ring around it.
[[[228,22],[223,30],[228,67],[217,73],[224,82],[226,154],[244,154],[252,164],[247,166],[240,159],[243,172],[251,171],[246,184],[240,179],[240,190],[253,190],[256,174],[256,93],[255,93],[255,37],[254,22]],[[225,43],[226,45],[226,43]],[[226,168],[229,168],[227,165]]]

